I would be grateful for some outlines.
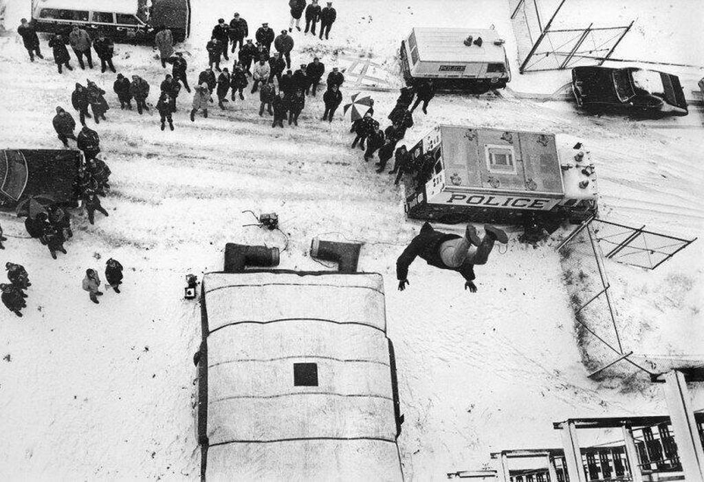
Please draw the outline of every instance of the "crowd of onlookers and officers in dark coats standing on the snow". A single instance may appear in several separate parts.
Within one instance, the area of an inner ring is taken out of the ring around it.
[[[249,38],[249,24],[239,13],[234,13],[229,23],[225,22],[224,18],[218,19],[206,44],[208,67],[199,72],[193,89],[189,110],[192,122],[199,112],[207,118],[211,103],[217,102],[218,108],[225,110],[229,102],[244,101],[246,93],[251,96],[258,93],[260,117],[265,113],[270,115],[272,127],[284,127],[284,122],[289,126],[297,126],[298,117],[306,107],[306,97],[317,96],[323,77],[326,89],[322,94],[325,110],[321,120],[332,122],[342,101],[341,86],[345,82],[344,74],[337,67],[327,72],[325,64],[318,57],[299,63],[299,67],[293,70],[291,53],[295,41],[291,34],[294,28],[301,32],[301,18],[305,15],[303,34],[310,32],[314,36],[318,35],[320,39],[328,39],[331,27],[337,19],[337,12],[332,7],[332,2],[327,2],[327,6],[321,8],[318,0],[310,0],[310,4],[306,0],[291,0],[289,7],[291,20],[288,30],[280,30],[278,35],[267,22],[263,22],[254,33],[254,38]],[[25,19],[18,27],[18,33],[23,39],[30,61],[34,61],[35,56],[44,58],[37,33]],[[182,52],[175,50],[174,36],[167,27],[158,27],[154,45],[158,50],[162,68],[171,65],[170,73],[167,73],[160,83],[156,110],[160,116],[161,130],[165,130],[168,125],[170,131],[173,131],[173,114],[178,110],[177,99],[183,89],[191,92],[188,62]],[[54,61],[60,73],[63,68],[73,70],[68,46],[73,50],[82,69],[93,68],[94,50],[101,61],[101,72],[111,70],[117,73],[113,91],[120,103],[120,109],[134,108],[139,115],[151,112],[153,106],[148,101],[151,91],[149,82],[139,75],[127,76],[116,72],[113,64],[113,42],[104,32],[92,39],[86,30],[75,26],[68,35],[55,35],[49,46],[53,50]],[[222,65],[223,61],[230,61],[230,56],[233,61],[231,69]],[[422,184],[427,178],[428,170],[432,169],[434,159],[428,156],[413,158],[405,145],[398,144],[406,137],[407,129],[413,127],[415,109],[422,105],[422,112],[427,114],[428,104],[434,94],[435,85],[432,80],[403,87],[396,106],[389,113],[387,127],[382,129],[379,121],[374,118],[373,101],[368,112],[351,125],[350,132],[355,134],[352,147],[359,146],[364,151],[363,157],[366,161],[378,156],[377,172],[384,172],[389,161],[394,160],[389,174],[396,174],[396,184],[405,174],[412,175],[417,184]],[[108,120],[106,112],[110,106],[106,100],[106,89],[92,80],[87,80],[85,86],[77,82],[71,95],[71,105],[81,125],[78,134],[75,134],[77,123],[73,116],[61,106],[56,108],[53,125],[58,139],[66,148],[70,148],[69,141],[75,141],[76,147],[84,154],[76,189],[82,205],[87,210],[89,222],[94,224],[96,211],[108,215],[101,205],[100,197],[105,196],[110,188],[108,181],[111,170],[98,157],[101,151],[99,134],[90,129],[86,122],[92,118],[96,125],[99,125],[101,121]],[[49,206],[46,213],[28,217],[25,227],[32,238],[39,239],[49,248],[54,259],[57,252],[66,253],[63,243],[73,235],[70,214],[59,206]],[[3,240],[0,231],[0,247]],[[108,284],[119,293],[122,266],[115,260],[108,260],[108,267]],[[12,279],[20,281],[15,282]],[[21,276],[13,274],[11,284],[3,285],[3,301],[18,315],[21,315],[20,309],[26,296],[24,291],[28,286],[23,284],[22,279]],[[87,270],[82,286],[89,292],[90,299],[99,303],[98,296],[102,294],[101,281],[94,269]]]

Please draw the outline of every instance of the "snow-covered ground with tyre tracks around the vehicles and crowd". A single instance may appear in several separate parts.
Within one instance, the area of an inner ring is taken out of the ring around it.
[[[206,64],[210,28],[234,9],[224,0],[191,3],[193,33],[183,48],[195,80]],[[617,50],[620,57],[704,65],[695,46],[704,15],[698,1],[571,3],[585,14],[639,19],[638,33]],[[11,2],[8,26],[28,16],[28,4]],[[515,48],[504,1],[339,0],[336,7],[329,42],[294,34],[296,52],[316,51],[328,68],[336,53],[371,53],[392,72],[399,39],[413,25],[494,24]],[[265,20],[275,30],[288,25],[284,1],[236,8],[251,32]],[[151,49],[119,45],[116,51],[118,71],[142,75],[158,89],[164,71]],[[309,56],[294,55],[294,65],[298,60]],[[551,92],[567,75],[514,75],[511,86]],[[409,480],[439,480],[476,467],[491,450],[557,445],[551,422],[567,417],[665,412],[658,386],[624,391],[586,378],[556,239],[533,248],[512,236],[508,248],[477,268],[476,294],[464,291],[460,277],[422,262],[411,267],[408,289],[396,291],[396,257],[420,223],[404,217],[391,176],[375,174],[360,151],[348,148],[346,123],[319,122],[320,98],[308,99],[298,128],[273,130],[249,95],[191,123],[184,93],[175,132],[161,132],[156,115],[115,109],[112,74],[57,75],[52,61],[30,64],[18,37],[2,37],[0,146],[60,147],[51,127],[54,108],[69,108],[73,84],[87,76],[108,90],[113,107],[96,129],[113,170],[113,189],[103,201],[110,217],[96,215],[94,226],[75,217],[68,255],[56,261],[28,239],[11,238],[0,251],[0,265],[20,262],[32,281],[25,317],[1,311],[0,478],[197,478],[191,357],[200,338],[199,307],[182,300],[184,274],[221,269],[227,241],[283,246],[276,232],[241,227],[251,222],[241,213],[247,209],[279,214],[290,239],[284,268],[320,269],[307,254],[313,236],[365,241],[360,269],[384,275],[406,414],[398,441]],[[377,118],[385,119],[396,94],[374,96]],[[556,101],[441,95],[429,115],[415,116],[407,139],[414,142],[437,122],[570,134],[596,161],[605,219],[693,237],[704,232],[701,115],[692,108],[686,118],[636,122],[579,115],[572,104]],[[6,234],[24,236],[13,215],[0,213],[0,222]],[[80,281],[87,267],[102,277],[111,257],[126,268],[124,289],[94,305]],[[609,267],[631,348],[704,351],[703,260],[697,241],[656,272]]]

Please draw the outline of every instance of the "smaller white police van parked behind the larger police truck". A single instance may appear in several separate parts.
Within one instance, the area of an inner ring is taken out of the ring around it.
[[[491,29],[414,28],[401,42],[403,77],[443,89],[502,89],[511,80],[503,44]]]

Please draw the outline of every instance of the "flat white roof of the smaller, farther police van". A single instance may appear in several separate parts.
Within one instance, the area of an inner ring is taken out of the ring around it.
[[[496,30],[465,28],[414,28],[421,62],[505,62],[503,44]],[[464,44],[467,37],[482,37],[482,46]]]

